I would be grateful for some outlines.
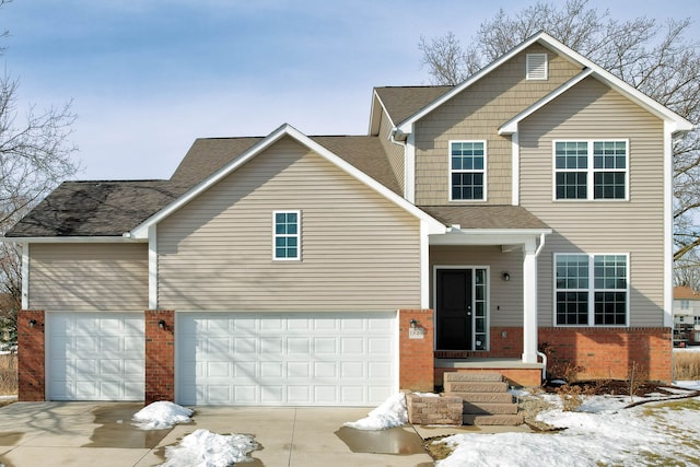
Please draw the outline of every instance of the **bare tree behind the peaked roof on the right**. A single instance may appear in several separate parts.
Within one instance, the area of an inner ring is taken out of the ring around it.
[[[503,9],[463,47],[453,33],[418,47],[434,84],[457,84],[539,31],[692,122],[700,121],[700,47],[686,38],[690,19],[618,21],[587,0]],[[700,246],[700,131],[674,141],[674,259]]]

